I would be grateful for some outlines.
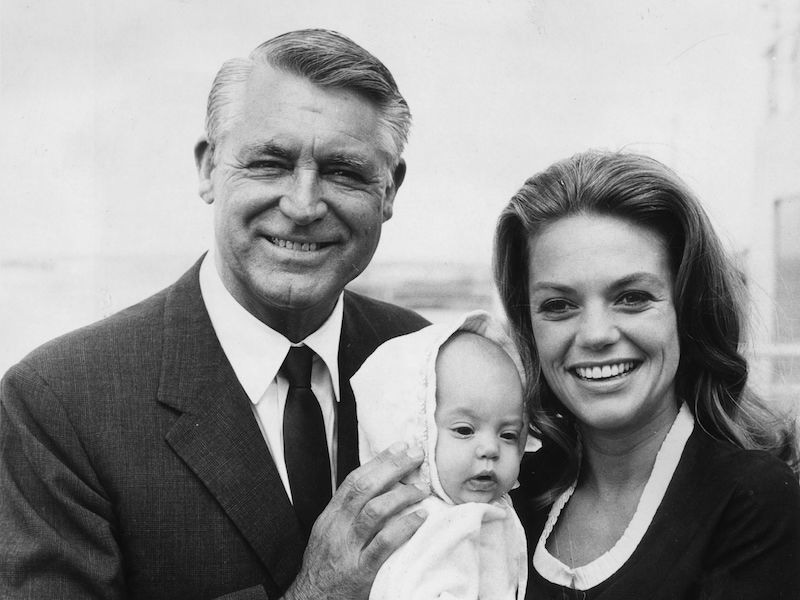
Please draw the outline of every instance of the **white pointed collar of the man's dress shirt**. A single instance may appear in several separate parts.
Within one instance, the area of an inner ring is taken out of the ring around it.
[[[253,404],[275,379],[292,343],[259,321],[231,295],[215,267],[213,251],[200,266],[200,292],[214,332],[236,377]],[[333,394],[339,400],[339,338],[342,332],[342,294],[322,326],[302,341],[325,363]]]

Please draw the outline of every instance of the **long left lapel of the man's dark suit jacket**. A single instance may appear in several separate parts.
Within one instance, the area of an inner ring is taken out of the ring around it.
[[[183,414],[166,439],[285,590],[305,543],[250,401],[203,303],[199,265],[167,297],[159,400]]]

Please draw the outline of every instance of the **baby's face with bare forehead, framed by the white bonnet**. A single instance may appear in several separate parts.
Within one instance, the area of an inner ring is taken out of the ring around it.
[[[524,448],[522,384],[492,342],[458,334],[436,361],[436,467],[456,504],[491,502],[519,475]]]

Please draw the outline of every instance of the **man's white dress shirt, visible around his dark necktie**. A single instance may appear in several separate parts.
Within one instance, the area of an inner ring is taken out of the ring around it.
[[[286,488],[292,492],[283,454],[283,410],[289,383],[278,370],[293,344],[282,334],[250,314],[230,294],[215,267],[213,251],[200,267],[200,291],[222,350],[253,406],[258,426]],[[311,389],[325,422],[331,489],[336,488],[336,408],[339,401],[339,338],[342,331],[342,296],[328,319],[301,344],[316,356],[311,368]],[[300,345],[300,344],[294,344]]]

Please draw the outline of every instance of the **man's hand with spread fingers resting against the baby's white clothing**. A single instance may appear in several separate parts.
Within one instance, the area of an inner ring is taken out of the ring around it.
[[[344,480],[311,530],[303,566],[284,600],[368,598],[389,555],[422,525],[423,510],[400,513],[425,494],[400,479],[422,450],[394,444]]]

